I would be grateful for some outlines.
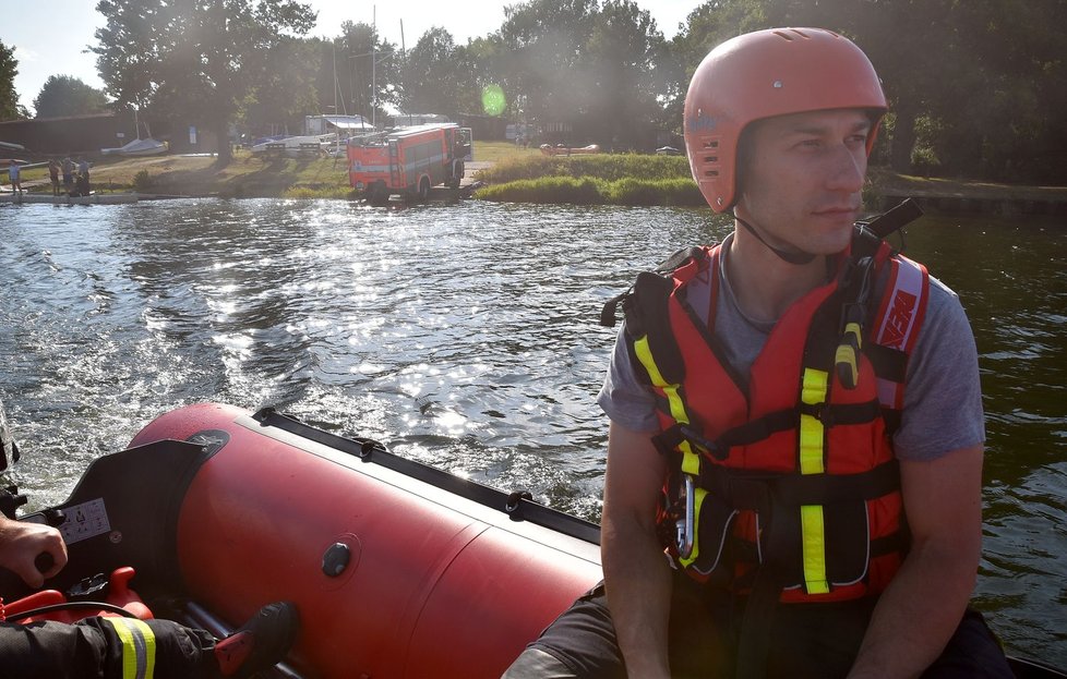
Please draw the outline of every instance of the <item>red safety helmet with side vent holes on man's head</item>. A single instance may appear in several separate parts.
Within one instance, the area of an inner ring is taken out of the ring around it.
[[[693,179],[717,213],[736,202],[738,143],[762,118],[862,108],[875,111],[874,146],[886,96],[866,54],[824,28],[771,28],[711,50],[685,95],[685,150]]]

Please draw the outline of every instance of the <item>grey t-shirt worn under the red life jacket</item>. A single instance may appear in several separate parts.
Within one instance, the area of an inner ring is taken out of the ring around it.
[[[731,237],[732,238],[732,237]],[[723,255],[730,239],[723,243]],[[715,336],[738,373],[748,374],[767,341],[772,323],[747,318],[719,267],[719,301]],[[711,287],[708,276],[686,289],[690,305],[707,323]],[[879,299],[882,289],[874,299]],[[635,432],[655,432],[659,423],[650,388],[639,381],[620,330],[603,387],[597,397],[611,420]],[[939,280],[930,279],[930,301],[919,339],[908,362],[907,387],[894,450],[901,460],[934,460],[947,452],[985,441],[978,351],[959,298]]]

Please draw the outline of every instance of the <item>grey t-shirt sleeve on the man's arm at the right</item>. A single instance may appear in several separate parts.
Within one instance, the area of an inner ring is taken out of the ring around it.
[[[974,335],[956,293],[931,277],[894,448],[902,460],[927,461],[984,441]]]

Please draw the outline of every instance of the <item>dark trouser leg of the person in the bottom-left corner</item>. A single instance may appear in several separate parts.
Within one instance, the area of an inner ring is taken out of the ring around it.
[[[156,639],[155,679],[218,676],[215,639],[170,620],[146,620]],[[121,679],[122,642],[101,618],[63,622],[0,622],[4,679]]]

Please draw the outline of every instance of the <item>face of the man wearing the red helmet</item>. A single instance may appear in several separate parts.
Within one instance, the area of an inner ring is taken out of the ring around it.
[[[738,216],[775,246],[817,255],[844,250],[860,210],[871,126],[858,109],[753,123]]]

